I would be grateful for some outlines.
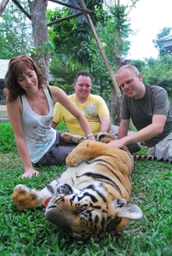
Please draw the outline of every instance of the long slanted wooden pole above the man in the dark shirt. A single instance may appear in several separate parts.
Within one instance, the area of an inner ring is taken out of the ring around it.
[[[80,0],[79,2],[81,3],[81,7],[82,7],[83,9],[86,9],[86,5],[85,5],[84,1],[83,1],[83,0]],[[97,35],[97,32],[95,31],[95,26],[94,26],[94,24],[93,24],[93,22],[92,22],[92,20],[91,20],[91,18],[90,18],[90,16],[89,16],[89,14],[88,14],[88,13],[85,13],[85,16],[86,16],[86,18],[87,18],[87,20],[88,20],[88,22],[89,22],[89,26],[90,26],[90,28],[91,28],[93,34],[94,34],[95,40],[96,40],[96,42],[97,42],[97,44],[98,44],[98,47],[99,47],[99,49],[100,49],[100,53],[101,53],[101,55],[102,55],[102,57],[103,57],[103,60],[104,60],[105,63],[106,63],[106,67],[107,67],[107,69],[108,69],[108,71],[109,71],[109,73],[110,73],[110,75],[111,75],[112,84],[113,84],[113,86],[115,87],[115,90],[117,91],[118,99],[119,99],[119,101],[121,102],[121,100],[122,100],[121,91],[119,90],[118,83],[117,83],[117,79],[116,79],[116,77],[115,77],[115,74],[113,73],[112,66],[111,66],[111,64],[110,64],[110,62],[109,62],[109,60],[108,60],[108,58],[107,58],[106,51],[105,51],[105,49],[103,48],[102,44],[100,43],[100,39],[99,39],[99,37],[98,37],[98,35]]]

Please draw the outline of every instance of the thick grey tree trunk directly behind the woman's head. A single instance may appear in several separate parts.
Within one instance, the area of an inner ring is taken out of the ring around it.
[[[41,69],[45,83],[49,84],[50,55],[43,49],[43,44],[49,41],[49,33],[46,23],[46,10],[48,0],[28,0],[28,3],[35,43],[35,52],[32,54],[32,59]]]

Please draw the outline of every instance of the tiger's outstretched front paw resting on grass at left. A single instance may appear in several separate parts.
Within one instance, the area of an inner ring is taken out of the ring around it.
[[[14,188],[14,192],[11,198],[14,201],[14,205],[20,211],[40,206],[37,205],[37,190],[28,189],[25,185],[22,184],[19,184]]]

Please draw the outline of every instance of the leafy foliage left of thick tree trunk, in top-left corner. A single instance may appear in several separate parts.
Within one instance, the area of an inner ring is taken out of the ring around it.
[[[28,3],[19,3],[28,11]],[[25,14],[9,1],[4,9],[0,22],[0,55],[3,59],[10,59],[16,55],[26,55],[33,45],[32,24]]]

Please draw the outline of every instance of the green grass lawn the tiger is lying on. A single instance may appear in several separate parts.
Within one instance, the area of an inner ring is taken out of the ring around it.
[[[62,125],[64,130],[64,125]],[[44,209],[20,212],[11,200],[14,186],[24,183],[42,189],[66,166],[38,167],[38,177],[22,179],[24,172],[10,124],[0,125],[0,255],[172,255],[172,171],[169,163],[135,162],[132,202],[144,212],[140,221],[129,221],[120,237],[73,241],[44,217]],[[145,148],[140,154],[145,154]]]

